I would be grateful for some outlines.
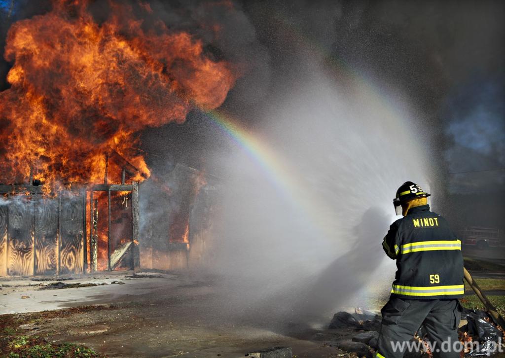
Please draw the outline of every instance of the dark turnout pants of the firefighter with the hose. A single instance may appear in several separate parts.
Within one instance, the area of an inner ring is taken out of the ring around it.
[[[434,358],[459,358],[458,325],[463,308],[457,299],[408,299],[391,295],[381,310],[378,358],[402,358],[416,348],[412,340],[423,325]],[[422,346],[421,346],[422,347]]]

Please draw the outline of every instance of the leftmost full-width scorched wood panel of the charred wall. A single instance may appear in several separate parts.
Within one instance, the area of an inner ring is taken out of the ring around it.
[[[8,274],[33,275],[33,202],[17,196],[9,204],[7,227]]]

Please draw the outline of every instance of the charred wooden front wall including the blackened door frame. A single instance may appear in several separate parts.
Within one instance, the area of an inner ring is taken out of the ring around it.
[[[88,262],[89,241],[87,241],[86,223],[90,222],[89,216],[92,211],[86,210],[89,206],[86,202],[86,191],[63,192],[58,197],[43,197],[37,187],[23,187],[25,192],[23,194],[14,194],[13,188],[15,186],[0,185],[0,192],[4,194],[4,197],[0,198],[0,276],[88,272],[92,266]],[[134,194],[132,203],[134,220],[133,228],[130,228],[133,234],[132,243],[134,240],[138,243],[137,188],[136,183],[94,187],[97,191],[109,191],[109,197],[111,191],[132,191]],[[103,220],[107,220],[107,217]],[[110,219],[108,221],[109,230]],[[93,232],[90,232],[90,235],[92,234]],[[127,251],[125,245],[120,245],[119,242],[113,249],[116,246],[118,250]],[[132,262],[128,268],[139,265],[138,249],[135,246],[128,247],[131,258],[129,261]],[[122,252],[122,256],[126,256],[125,252]],[[116,261],[120,260],[122,258]]]

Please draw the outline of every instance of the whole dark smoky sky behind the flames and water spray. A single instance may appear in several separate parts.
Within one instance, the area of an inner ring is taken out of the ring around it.
[[[10,22],[51,6],[13,3],[8,18],[11,1],[0,0],[2,47]],[[107,16],[105,2],[91,3],[97,21]],[[232,9],[210,3],[150,1],[156,17],[190,31],[216,58],[240,67],[242,77],[224,108],[251,122],[246,124],[261,125],[252,123],[260,104],[296,84],[299,43],[285,31],[296,29],[328,59],[405,93],[425,118],[420,135],[429,138],[427,150],[449,192],[489,192],[505,184],[503,2],[265,0],[235,1]],[[214,23],[222,26],[218,37],[206,30]],[[0,89],[8,86],[8,69],[0,62]],[[148,130],[142,136],[143,149],[152,153],[148,160],[168,156],[204,165],[216,138],[201,131],[202,121],[193,113],[184,125]],[[159,148],[158,139],[166,137],[168,144]]]

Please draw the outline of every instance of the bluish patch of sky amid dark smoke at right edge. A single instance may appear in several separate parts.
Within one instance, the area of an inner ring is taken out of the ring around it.
[[[505,91],[503,77],[470,81],[449,94],[445,155],[451,189],[489,192],[505,184]]]

